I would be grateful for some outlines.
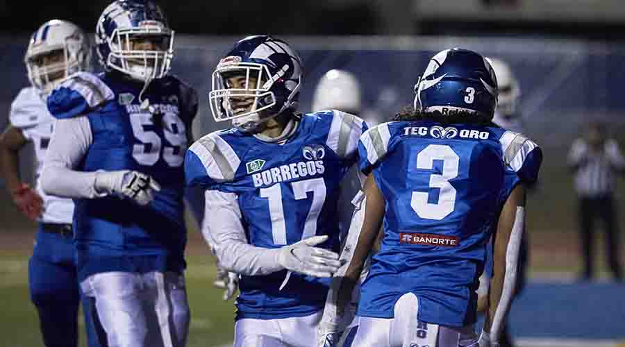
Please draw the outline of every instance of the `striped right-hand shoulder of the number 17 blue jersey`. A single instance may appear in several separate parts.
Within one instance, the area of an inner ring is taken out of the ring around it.
[[[332,123],[328,130],[326,146],[330,147],[340,158],[356,155],[358,139],[367,130],[363,119],[339,110],[315,112],[317,117],[331,117]]]

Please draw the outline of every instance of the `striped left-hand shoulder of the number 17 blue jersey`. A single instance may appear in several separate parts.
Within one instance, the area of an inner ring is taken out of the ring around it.
[[[202,137],[187,151],[185,174],[189,185],[211,185],[234,179],[241,160],[220,133]]]

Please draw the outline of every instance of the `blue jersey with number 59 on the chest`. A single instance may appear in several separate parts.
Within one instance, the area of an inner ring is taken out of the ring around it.
[[[182,271],[183,160],[197,94],[174,76],[143,83],[115,72],[80,73],[48,98],[58,119],[88,117],[92,143],[76,170],[135,170],[161,187],[146,206],[107,196],[76,199],[74,239],[81,278],[105,271]]]

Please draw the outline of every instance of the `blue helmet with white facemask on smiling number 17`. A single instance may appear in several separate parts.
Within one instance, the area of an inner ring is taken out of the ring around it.
[[[240,82],[233,84],[231,78]],[[299,106],[302,65],[286,42],[268,35],[245,37],[235,44],[213,72],[208,93],[215,121],[254,131],[260,124]]]

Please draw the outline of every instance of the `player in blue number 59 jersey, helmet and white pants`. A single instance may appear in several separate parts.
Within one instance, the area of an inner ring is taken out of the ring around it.
[[[57,118],[42,174],[74,198],[78,279],[108,346],[184,346],[185,151],[196,92],[167,74],[174,31],[151,1],[118,0],[96,27],[102,74],[47,99]]]

